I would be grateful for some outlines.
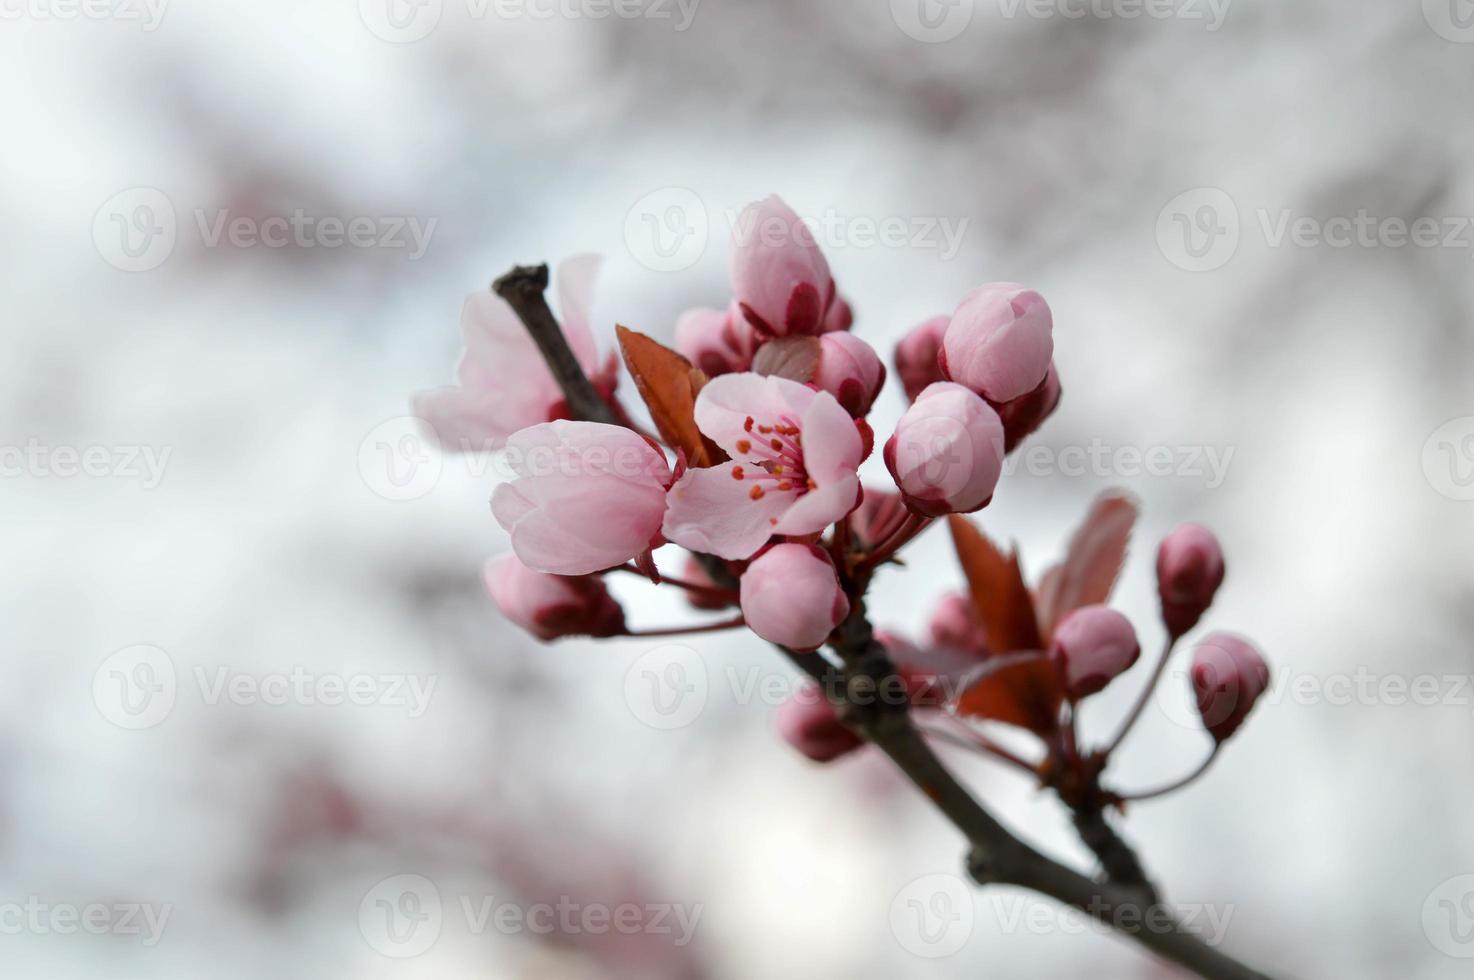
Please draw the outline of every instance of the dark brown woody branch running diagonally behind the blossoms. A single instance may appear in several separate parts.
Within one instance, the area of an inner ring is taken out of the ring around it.
[[[553,377],[567,398],[570,414],[588,421],[613,421],[610,405],[584,374],[548,309],[542,296],[547,284],[545,265],[519,267],[498,279],[492,289],[511,305],[542,351]],[[710,563],[708,570],[718,585],[731,579],[719,561]],[[836,703],[845,724],[886,753],[961,831],[971,849],[968,872],[973,880],[979,884],[1016,884],[1047,895],[1207,980],[1269,980],[1207,945],[1167,906],[1147,899],[1139,884],[1092,881],[1039,853],[998,822],[958,783],[911,724],[907,699],[881,697],[881,691],[893,684],[899,682],[905,688],[890,656],[874,637],[864,600],[852,604],[849,617],[836,631],[833,647],[845,665],[842,672],[818,654],[800,654],[784,647],[778,650],[818,681]],[[836,684],[837,679],[842,684]],[[1111,833],[1108,827],[1106,830]],[[1114,837],[1113,833],[1111,836]],[[1119,843],[1125,847],[1123,841]]]

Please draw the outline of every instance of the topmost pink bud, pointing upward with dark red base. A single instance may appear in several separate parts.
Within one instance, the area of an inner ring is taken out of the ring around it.
[[[775,196],[747,205],[733,246],[733,292],[765,337],[820,333],[834,299],[814,233]]]

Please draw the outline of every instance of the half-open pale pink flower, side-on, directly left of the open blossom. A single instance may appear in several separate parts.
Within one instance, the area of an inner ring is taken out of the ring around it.
[[[497,488],[491,511],[528,567],[601,572],[660,533],[671,467],[629,429],[550,421],[517,432],[507,449],[517,479]]]

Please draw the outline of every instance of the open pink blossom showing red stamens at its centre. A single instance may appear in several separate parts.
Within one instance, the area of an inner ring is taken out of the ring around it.
[[[696,424],[731,457],[671,488],[665,536],[747,559],[772,535],[818,533],[859,498],[864,445],[833,395],[783,377],[727,374],[696,399]]]

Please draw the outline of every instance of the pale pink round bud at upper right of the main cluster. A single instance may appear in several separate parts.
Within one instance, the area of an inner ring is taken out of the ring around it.
[[[942,339],[942,373],[993,404],[1038,388],[1052,357],[1049,304],[1019,283],[991,283],[970,292]]]

